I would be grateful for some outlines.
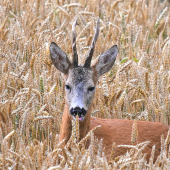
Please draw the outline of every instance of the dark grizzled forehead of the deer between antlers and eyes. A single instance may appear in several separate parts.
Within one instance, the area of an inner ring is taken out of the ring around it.
[[[69,70],[68,83],[77,86],[78,84],[88,85],[93,83],[93,71],[82,66]]]

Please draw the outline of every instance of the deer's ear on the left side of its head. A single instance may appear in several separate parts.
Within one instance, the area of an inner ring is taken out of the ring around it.
[[[66,53],[55,43],[50,45],[50,55],[54,66],[64,74],[68,74],[71,67],[71,61],[67,57]]]

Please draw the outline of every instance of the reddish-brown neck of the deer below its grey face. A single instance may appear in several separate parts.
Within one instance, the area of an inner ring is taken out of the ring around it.
[[[91,107],[86,113],[85,119],[82,122],[79,122],[79,133],[80,139],[83,139],[86,134],[90,131],[90,119],[91,119]],[[69,112],[69,107],[65,104],[64,113],[62,117],[62,125],[60,130],[60,142],[65,139],[64,144],[68,142],[71,137],[72,132],[72,116]]]

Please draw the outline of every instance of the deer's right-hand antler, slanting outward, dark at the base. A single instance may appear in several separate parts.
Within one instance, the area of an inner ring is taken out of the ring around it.
[[[88,54],[86,61],[85,61],[85,64],[84,64],[84,67],[86,67],[86,68],[90,68],[90,65],[91,65],[91,60],[92,60],[92,56],[93,56],[93,53],[94,53],[95,44],[96,44],[97,38],[99,36],[99,28],[100,28],[100,21],[99,21],[99,17],[98,17],[95,36],[94,36],[93,41],[91,43],[90,51],[89,51],[89,54]]]

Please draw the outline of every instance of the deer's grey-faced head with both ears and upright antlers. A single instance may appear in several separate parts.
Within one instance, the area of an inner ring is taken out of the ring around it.
[[[50,45],[50,55],[54,66],[65,74],[66,84],[66,102],[73,119],[78,115],[79,121],[86,119],[90,114],[88,110],[91,108],[95,86],[101,75],[108,72],[115,60],[118,53],[116,45],[112,46],[104,52],[91,66],[91,60],[95,48],[95,44],[99,35],[99,18],[97,20],[97,27],[95,36],[92,40],[91,48],[83,66],[78,65],[78,54],[76,50],[76,35],[75,26],[77,19],[73,23],[72,33],[72,62],[67,57],[64,51],[54,42]]]

